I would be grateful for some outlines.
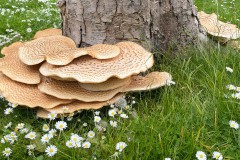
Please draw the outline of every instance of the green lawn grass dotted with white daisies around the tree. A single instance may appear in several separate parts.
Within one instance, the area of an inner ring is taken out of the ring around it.
[[[48,3],[39,1],[0,0],[0,49],[15,41],[30,40],[38,30],[60,27],[54,0]],[[218,12],[220,19],[240,26],[240,3],[237,1],[196,0],[196,5],[199,10]],[[226,67],[232,68],[233,72],[227,71]],[[0,143],[0,159],[5,158],[2,151],[7,147],[12,150],[8,159],[13,160],[163,160],[167,157],[193,160],[198,151],[203,151],[208,159],[213,159],[214,151],[220,152],[226,160],[240,159],[240,129],[229,125],[230,120],[240,123],[240,100],[233,98],[232,94],[237,92],[227,87],[230,84],[240,87],[239,69],[239,51],[218,47],[214,42],[182,51],[175,59],[166,54],[153,70],[171,73],[176,84],[127,95],[129,108],[122,112],[128,118],[120,115],[110,117],[110,107],[99,110],[101,127],[95,125],[94,118],[98,114],[95,111],[83,111],[73,117],[49,121],[37,119],[34,109],[24,107],[4,114],[9,106],[0,100],[0,139],[9,134],[14,139],[13,144]],[[43,125],[54,129],[56,122],[61,120],[67,123],[67,128],[57,131],[49,143],[43,144],[41,137],[47,133],[43,131]],[[110,121],[116,121],[117,127],[110,125]],[[7,127],[10,122],[12,125]],[[24,123],[29,132],[35,132],[36,138],[27,138],[20,123]],[[16,136],[11,134],[13,131]],[[93,138],[87,135],[89,131],[95,133]],[[90,142],[90,148],[66,146],[72,134]],[[127,145],[122,152],[117,152],[118,142]],[[36,148],[27,149],[30,144]],[[53,157],[45,153],[49,145],[58,149]]]

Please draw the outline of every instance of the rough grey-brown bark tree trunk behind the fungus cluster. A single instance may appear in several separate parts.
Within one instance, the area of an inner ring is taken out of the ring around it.
[[[58,0],[63,34],[78,47],[135,41],[148,49],[203,37],[193,0]]]

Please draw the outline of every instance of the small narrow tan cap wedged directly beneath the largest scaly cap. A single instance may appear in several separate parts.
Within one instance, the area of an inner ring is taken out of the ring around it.
[[[79,85],[89,91],[107,91],[129,85],[130,83],[131,77],[127,77],[124,79],[112,77],[102,83],[79,83]]]

